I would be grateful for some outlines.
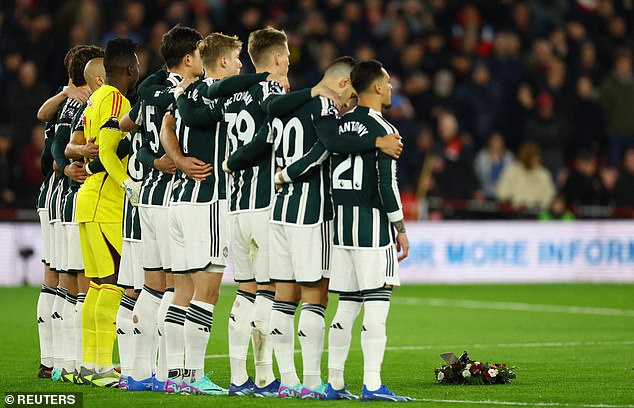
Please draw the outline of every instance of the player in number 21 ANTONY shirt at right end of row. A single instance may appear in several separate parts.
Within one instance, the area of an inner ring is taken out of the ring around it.
[[[317,132],[338,133],[339,138],[398,133],[381,114],[392,97],[390,76],[382,64],[360,62],[350,78],[359,96],[358,106],[338,121],[332,117],[317,120]],[[326,396],[336,399],[347,393],[343,369],[352,325],[363,304],[361,400],[408,401],[381,382],[390,295],[400,284],[398,261],[409,251],[396,160],[377,151],[333,154],[331,166],[335,233],[329,290],[340,294],[340,302],[328,337]],[[398,251],[402,253],[397,259]]]

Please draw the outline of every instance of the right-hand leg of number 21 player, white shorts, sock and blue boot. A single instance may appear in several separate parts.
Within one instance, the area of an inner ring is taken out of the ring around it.
[[[381,365],[387,334],[385,324],[390,309],[393,285],[399,285],[398,260],[395,245],[371,250],[355,250],[354,264],[357,281],[363,293],[362,401],[409,401],[394,394],[381,381]]]

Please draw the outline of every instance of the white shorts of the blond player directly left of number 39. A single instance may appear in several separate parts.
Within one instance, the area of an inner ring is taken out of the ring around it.
[[[224,272],[229,254],[226,200],[172,205],[169,226],[173,273]]]

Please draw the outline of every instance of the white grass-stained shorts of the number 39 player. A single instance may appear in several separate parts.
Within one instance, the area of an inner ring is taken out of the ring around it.
[[[269,277],[270,211],[229,214],[233,279],[236,282],[271,282]]]

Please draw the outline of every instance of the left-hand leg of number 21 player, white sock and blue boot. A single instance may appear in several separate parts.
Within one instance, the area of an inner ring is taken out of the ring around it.
[[[334,247],[329,290],[339,293],[337,311],[328,330],[328,386],[326,399],[356,399],[345,388],[344,368],[350,351],[352,327],[359,316],[363,297],[353,274],[351,251]]]

